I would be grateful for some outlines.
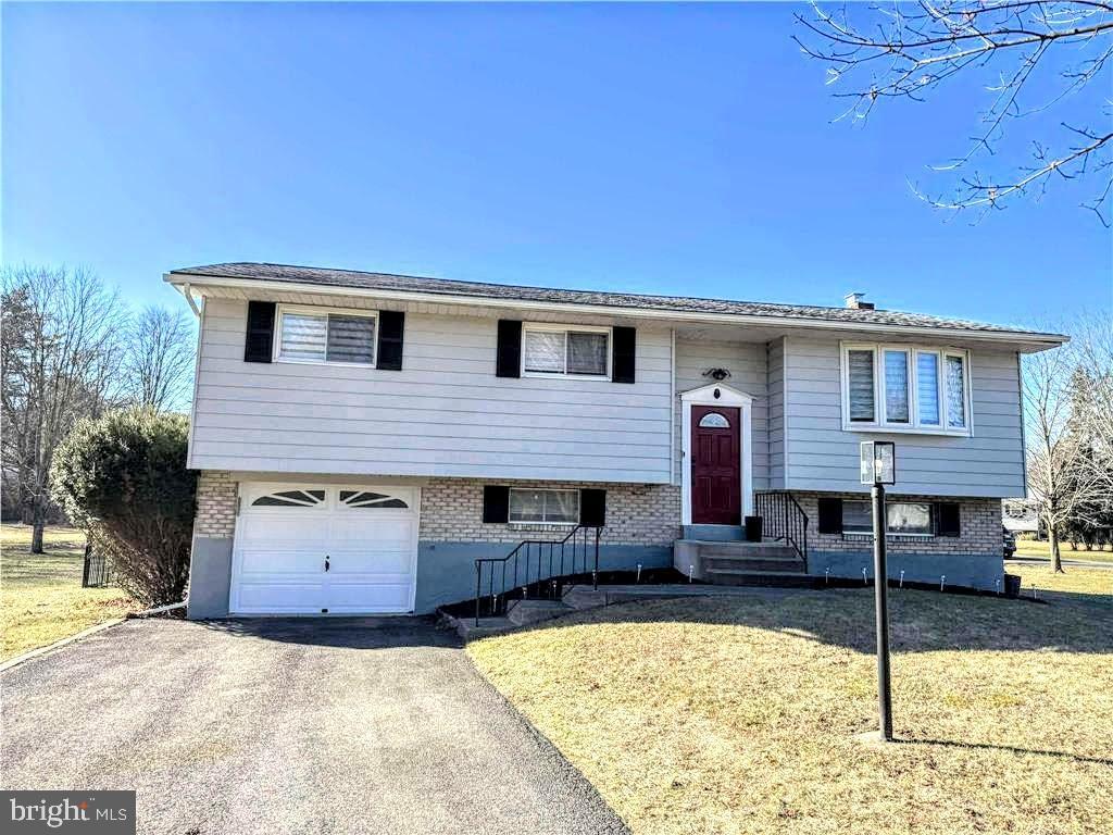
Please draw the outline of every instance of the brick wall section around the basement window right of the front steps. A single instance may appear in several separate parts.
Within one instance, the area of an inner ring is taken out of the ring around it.
[[[861,533],[820,533],[819,532],[819,498],[838,495],[843,499],[869,500],[861,493],[800,493],[792,495],[804,508],[810,520],[808,523],[808,549],[811,551],[860,552],[873,548],[871,534]],[[955,501],[959,503],[958,537],[886,537],[886,550],[889,553],[985,553],[1001,554],[1001,500],[999,499],[939,499],[927,495],[886,495],[890,502],[898,501]]]

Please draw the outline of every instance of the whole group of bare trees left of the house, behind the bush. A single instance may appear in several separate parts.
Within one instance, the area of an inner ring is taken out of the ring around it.
[[[109,410],[187,409],[194,324],[181,310],[131,310],[86,268],[19,266],[0,273],[0,341],[3,509],[33,525],[41,553],[59,444]]]

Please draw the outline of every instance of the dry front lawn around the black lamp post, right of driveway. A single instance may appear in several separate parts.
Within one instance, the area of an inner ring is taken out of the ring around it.
[[[894,592],[884,747],[871,603],[628,603],[469,654],[638,835],[1113,831],[1113,597]]]

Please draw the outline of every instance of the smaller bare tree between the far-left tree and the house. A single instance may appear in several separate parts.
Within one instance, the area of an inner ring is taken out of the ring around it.
[[[129,400],[158,411],[181,409],[189,400],[194,332],[181,311],[150,305],[132,322],[124,361]]]

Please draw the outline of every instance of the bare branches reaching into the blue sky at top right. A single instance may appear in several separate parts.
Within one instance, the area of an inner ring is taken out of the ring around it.
[[[805,37],[794,38],[807,55],[827,65],[829,84],[850,85],[835,94],[850,102],[839,119],[864,120],[879,101],[923,101],[956,76],[996,70],[986,85],[989,105],[968,148],[937,167],[956,177],[953,195],[933,197],[914,186],[919,197],[937,208],[974,208],[982,217],[989,209],[1004,208],[1009,198],[1042,195],[1053,179],[1074,180],[1089,174],[1096,186],[1082,205],[1110,225],[1113,110],[1107,96],[1092,114],[1092,124],[1061,122],[1056,147],[1033,138],[1027,163],[992,174],[983,174],[976,165],[983,160],[1001,164],[997,144],[1011,121],[1048,111],[1095,78],[1104,80],[1107,92],[1113,0],[920,0],[850,6],[853,14],[848,6],[828,10],[812,0],[809,16],[796,16]],[[1070,60],[1065,69],[1055,68],[1051,92],[1027,102],[1030,82],[1040,77],[1050,52]]]

